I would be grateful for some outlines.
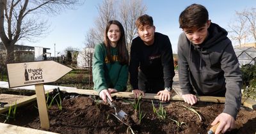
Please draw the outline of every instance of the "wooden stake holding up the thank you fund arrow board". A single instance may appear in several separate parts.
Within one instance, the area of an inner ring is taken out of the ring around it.
[[[41,127],[48,130],[50,128],[50,124],[45,101],[44,84],[36,84],[35,89]]]

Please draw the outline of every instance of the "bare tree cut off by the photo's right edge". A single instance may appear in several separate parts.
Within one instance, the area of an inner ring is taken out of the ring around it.
[[[247,19],[249,24],[248,33],[250,33],[250,36],[256,41],[256,8],[245,9],[241,12],[237,12],[237,14]]]

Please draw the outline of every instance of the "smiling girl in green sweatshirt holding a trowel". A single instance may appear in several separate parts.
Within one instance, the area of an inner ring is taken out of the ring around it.
[[[104,42],[95,46],[93,55],[93,89],[103,101],[106,102],[107,97],[112,101],[111,93],[126,90],[128,63],[124,27],[117,20],[110,20]]]

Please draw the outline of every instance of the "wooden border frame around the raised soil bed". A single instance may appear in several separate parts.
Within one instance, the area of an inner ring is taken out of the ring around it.
[[[97,91],[86,90],[86,89],[61,89],[61,91],[64,91],[64,92],[67,92],[67,93],[78,93],[78,94],[99,96]],[[52,90],[49,90],[47,92],[51,93]],[[129,93],[129,92],[113,93],[113,94],[111,94],[111,96],[116,96],[116,97],[120,97],[120,98],[134,98],[133,93]],[[158,100],[159,96],[157,96],[156,94],[146,93],[145,96],[143,96],[143,98]],[[35,101],[35,100],[36,100],[36,94],[33,95],[33,96],[28,96],[26,98],[22,98],[20,100],[17,100],[17,107],[20,107],[22,105],[26,105],[27,103],[30,103],[30,102]],[[182,99],[181,96],[179,96],[177,94],[173,94],[172,97],[171,97],[171,100],[182,101],[183,99]],[[225,103],[225,98],[224,97],[214,97],[214,96],[199,96],[198,101]],[[241,104],[244,107],[248,107],[248,108],[251,108],[253,110],[256,110],[255,109],[255,107],[256,107],[256,101],[255,100],[252,100],[250,98],[242,98]],[[10,104],[6,105],[6,107],[4,107],[4,108],[0,108],[0,113],[8,111],[9,107],[10,107]],[[35,129],[32,129],[32,128],[24,128],[24,127],[21,127],[21,126],[15,126],[15,125],[11,125],[11,124],[3,124],[3,123],[0,123],[0,131],[1,132],[3,131],[3,133],[19,133],[20,131],[22,131],[22,133],[54,134],[54,133],[49,132],[49,131],[35,130]]]

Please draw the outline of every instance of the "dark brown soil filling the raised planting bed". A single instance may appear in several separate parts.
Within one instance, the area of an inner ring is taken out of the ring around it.
[[[223,103],[200,102],[193,106],[202,116],[200,121],[198,115],[183,107],[189,106],[184,101],[171,101],[163,103],[166,110],[166,119],[159,119],[152,110],[151,100],[141,100],[141,111],[146,114],[139,122],[138,115],[130,103],[121,98],[115,98],[117,111],[124,110],[127,116],[122,119],[124,123],[116,119],[111,113],[115,113],[114,108],[107,103],[99,102],[97,96],[68,96],[62,101],[62,110],[57,105],[49,108],[50,129],[56,133],[207,133],[211,128],[211,123],[215,117],[223,110]],[[124,98],[127,100],[127,98]],[[132,99],[129,101],[133,102]],[[156,108],[159,101],[154,100]],[[40,118],[36,102],[26,107],[17,108],[15,121],[10,120],[8,124],[25,126],[44,130],[40,127]],[[176,120],[182,124],[176,124]],[[4,117],[0,117],[1,123]],[[131,129],[129,128],[131,126]],[[256,131],[256,111],[248,111],[241,108],[236,119],[236,129],[228,133],[255,134]]]

